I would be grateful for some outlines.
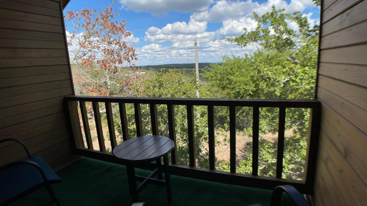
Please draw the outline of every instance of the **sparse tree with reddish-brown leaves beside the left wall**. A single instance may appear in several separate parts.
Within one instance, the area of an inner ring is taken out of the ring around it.
[[[112,5],[105,10],[66,11],[70,63],[77,95],[132,95],[131,86],[139,77],[131,32],[125,20],[116,21]],[[134,95],[135,96],[135,95]]]

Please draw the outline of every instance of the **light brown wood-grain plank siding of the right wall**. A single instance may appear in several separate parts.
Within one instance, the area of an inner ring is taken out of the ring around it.
[[[322,3],[314,203],[367,205],[367,0]]]

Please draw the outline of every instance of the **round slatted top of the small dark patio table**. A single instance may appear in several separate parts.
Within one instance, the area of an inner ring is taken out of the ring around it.
[[[112,153],[128,162],[150,162],[168,154],[173,148],[174,143],[168,137],[146,135],[124,141],[117,145]]]

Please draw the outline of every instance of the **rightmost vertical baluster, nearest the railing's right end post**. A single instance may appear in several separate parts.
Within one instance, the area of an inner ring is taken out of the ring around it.
[[[284,127],[286,124],[286,108],[279,108],[279,125],[278,125],[278,149],[276,158],[276,177],[281,178],[283,171],[283,152],[284,152]]]

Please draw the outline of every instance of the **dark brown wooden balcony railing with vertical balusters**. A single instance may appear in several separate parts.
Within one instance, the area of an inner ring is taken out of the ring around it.
[[[186,105],[188,122],[188,147],[189,147],[189,166],[178,165],[177,148],[171,152],[170,172],[181,176],[197,179],[217,181],[228,184],[243,185],[264,189],[273,189],[278,185],[290,184],[304,194],[312,194],[313,181],[315,179],[315,165],[317,144],[319,136],[320,122],[320,102],[318,100],[270,100],[270,99],[183,99],[183,98],[124,98],[124,97],[102,97],[102,96],[66,96],[65,106],[70,118],[70,135],[73,137],[75,154],[101,159],[104,161],[121,163],[112,154],[107,153],[103,141],[101,116],[99,114],[99,104],[105,104],[108,130],[111,148],[116,146],[115,126],[113,124],[111,103],[117,103],[120,111],[121,130],[123,140],[129,139],[128,125],[126,118],[126,103],[134,104],[135,122],[137,136],[144,135],[142,131],[142,120],[140,104],[150,105],[150,117],[152,134],[158,134],[157,104],[167,105],[169,137],[176,143],[174,105]],[[87,148],[84,148],[83,135],[80,128],[78,104]],[[85,102],[91,102],[94,112],[94,120],[97,130],[99,151],[93,150],[91,134],[88,125],[87,111]],[[208,108],[208,148],[209,148],[209,169],[196,168],[195,157],[195,132],[193,106],[207,106]],[[214,141],[214,106],[229,107],[229,129],[230,129],[230,172],[215,170],[215,141]],[[252,174],[236,173],[236,107],[252,107]],[[259,156],[259,108],[278,107],[279,108],[279,131],[277,144],[277,163],[276,177],[263,177],[258,175],[258,156]],[[284,152],[284,128],[286,108],[310,108],[310,132],[308,137],[307,157],[305,165],[304,180],[282,179],[283,152]],[[121,163],[123,164],[123,163]],[[138,165],[140,168],[152,169],[152,165]]]

